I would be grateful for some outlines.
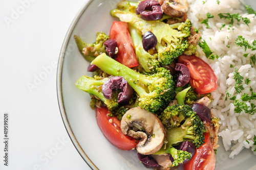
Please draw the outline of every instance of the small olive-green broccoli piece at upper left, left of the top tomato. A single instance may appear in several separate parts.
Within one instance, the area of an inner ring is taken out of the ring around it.
[[[86,43],[83,42],[79,36],[74,35],[79,52],[88,61],[92,61],[101,53],[106,52],[105,45],[103,43],[109,39],[109,36],[102,32],[98,32],[96,36],[96,41],[94,43]]]

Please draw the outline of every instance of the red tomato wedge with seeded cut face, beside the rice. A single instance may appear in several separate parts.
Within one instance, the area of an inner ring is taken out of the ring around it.
[[[217,89],[217,77],[214,70],[202,59],[195,55],[178,57],[178,63],[188,67],[190,72],[190,85],[199,94],[209,93]]]

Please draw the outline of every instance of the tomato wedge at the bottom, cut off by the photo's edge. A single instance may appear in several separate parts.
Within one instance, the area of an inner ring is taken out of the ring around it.
[[[184,170],[213,170],[215,168],[215,152],[210,141],[210,133],[204,133],[205,143],[196,150],[191,160],[184,164]]]

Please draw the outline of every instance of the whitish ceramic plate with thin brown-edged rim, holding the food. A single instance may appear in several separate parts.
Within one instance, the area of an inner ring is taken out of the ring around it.
[[[81,157],[92,169],[147,169],[137,158],[136,151],[121,151],[101,133],[95,111],[89,106],[90,96],[75,87],[75,82],[87,72],[89,62],[78,52],[73,36],[94,42],[96,32],[109,33],[113,17],[110,10],[119,0],[89,1],[74,18],[63,42],[57,70],[57,94],[60,113],[68,134]],[[256,9],[254,0],[247,4]],[[234,159],[228,158],[222,142],[216,156],[216,169],[256,169],[256,156],[244,149]]]

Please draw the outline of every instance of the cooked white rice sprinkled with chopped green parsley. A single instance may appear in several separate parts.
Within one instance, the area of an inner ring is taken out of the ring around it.
[[[212,67],[218,78],[217,90],[212,92],[215,100],[210,107],[215,116],[220,118],[219,139],[223,142],[225,150],[231,151],[230,158],[239,154],[244,148],[251,149],[256,155],[256,152],[253,151],[255,149],[253,137],[256,135],[256,115],[250,115],[244,111],[235,113],[235,106],[232,101],[225,101],[226,90],[231,95],[237,95],[237,99],[245,92],[250,95],[250,88],[253,89],[253,92],[256,92],[256,66],[251,67],[250,65],[250,56],[254,55],[256,51],[247,49],[245,52],[244,47],[237,46],[234,43],[238,35],[242,35],[249,43],[256,39],[256,17],[254,17],[254,14],[247,14],[244,2],[239,0],[220,0],[219,5],[217,0],[206,0],[204,2],[202,0],[188,0],[188,18],[194,27],[199,29],[202,39],[206,41],[211,51],[215,52],[214,55],[218,54],[219,56],[218,59],[208,60],[198,47],[200,57]],[[203,19],[206,19],[208,12],[214,15],[214,18],[208,19],[210,29],[206,29],[205,25],[200,23]],[[249,18],[251,23],[248,27],[242,20],[240,22],[234,20],[232,28],[228,29],[229,21],[220,19],[219,13],[240,13],[242,17]],[[227,24],[220,30],[224,22]],[[230,47],[228,48],[227,45]],[[247,53],[249,55],[245,58],[243,55]],[[244,80],[246,78],[251,80],[250,84],[243,85],[245,89],[241,94],[236,94],[234,89],[236,83],[233,79],[234,68],[230,68],[230,64],[238,68],[238,72],[244,77]],[[251,101],[251,103],[256,104],[256,101]],[[247,105],[250,106],[249,103]]]

